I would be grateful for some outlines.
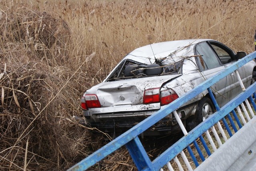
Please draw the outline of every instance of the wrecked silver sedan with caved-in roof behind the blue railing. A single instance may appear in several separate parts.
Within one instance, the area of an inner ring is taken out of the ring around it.
[[[137,48],[102,83],[82,95],[85,124],[105,133],[123,133],[244,56],[245,52],[234,53],[210,39],[160,42]],[[256,62],[250,61],[238,73],[248,87],[256,78]],[[242,92],[235,72],[211,89],[220,107]],[[206,90],[177,112],[186,129],[191,130],[214,110]],[[178,132],[180,127],[170,113],[144,135]]]

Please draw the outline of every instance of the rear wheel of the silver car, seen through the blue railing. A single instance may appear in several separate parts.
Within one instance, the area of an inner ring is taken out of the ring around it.
[[[194,127],[203,121],[203,117],[205,119],[208,118],[214,113],[214,111],[215,108],[212,104],[212,101],[208,97],[203,97],[196,107],[195,115],[190,116],[186,120],[187,131],[191,131]]]

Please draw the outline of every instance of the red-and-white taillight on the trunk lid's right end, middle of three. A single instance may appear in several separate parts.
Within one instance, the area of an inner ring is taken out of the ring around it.
[[[159,103],[160,102],[160,88],[151,88],[144,91],[143,103]]]

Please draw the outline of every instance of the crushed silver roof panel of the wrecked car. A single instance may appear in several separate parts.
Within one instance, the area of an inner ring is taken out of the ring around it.
[[[138,62],[142,62],[142,58],[147,59],[155,59],[155,58],[164,58],[166,56],[169,56],[171,53],[177,52],[177,51],[186,51],[185,54],[192,55],[193,52],[188,52],[188,50],[191,51],[191,49],[194,47],[195,44],[199,42],[209,41],[211,39],[189,39],[189,40],[174,40],[174,41],[168,41],[168,42],[159,42],[154,44],[149,44],[146,46],[142,46],[140,48],[137,48],[127,54],[125,58],[136,60]],[[186,50],[184,50],[186,47]],[[154,53],[153,53],[154,52]],[[124,59],[125,59],[124,58]]]

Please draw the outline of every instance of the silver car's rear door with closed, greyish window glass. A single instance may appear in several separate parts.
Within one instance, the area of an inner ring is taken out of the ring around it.
[[[195,46],[195,54],[200,55],[196,58],[196,63],[204,79],[209,79],[225,69],[225,66],[222,64],[209,42],[197,44]],[[230,101],[231,84],[232,78],[231,75],[228,75],[211,87],[220,107]]]

